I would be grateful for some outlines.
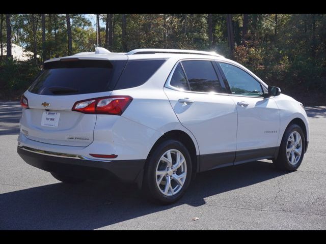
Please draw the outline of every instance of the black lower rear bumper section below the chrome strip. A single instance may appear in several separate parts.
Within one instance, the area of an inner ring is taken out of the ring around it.
[[[145,160],[94,161],[49,156],[19,146],[17,153],[26,163],[36,168],[77,178],[100,179],[114,176],[123,181],[138,181],[145,165]]]

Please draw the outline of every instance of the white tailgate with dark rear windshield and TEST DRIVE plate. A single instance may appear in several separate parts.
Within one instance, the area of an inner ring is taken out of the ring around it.
[[[22,133],[57,145],[92,143],[97,115],[71,109],[77,101],[109,96],[125,64],[126,60],[77,58],[45,63],[44,71],[24,94],[30,108],[23,110]]]

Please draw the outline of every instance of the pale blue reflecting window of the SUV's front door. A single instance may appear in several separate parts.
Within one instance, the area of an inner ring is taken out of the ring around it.
[[[263,95],[260,83],[246,71],[233,65],[219,64],[228,80],[232,94],[258,97]]]

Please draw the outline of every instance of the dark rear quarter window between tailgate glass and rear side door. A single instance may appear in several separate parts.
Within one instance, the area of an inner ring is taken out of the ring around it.
[[[164,62],[165,59],[128,61],[115,89],[131,88],[144,84]]]

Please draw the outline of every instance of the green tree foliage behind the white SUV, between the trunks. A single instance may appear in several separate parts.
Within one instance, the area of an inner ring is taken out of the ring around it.
[[[230,54],[226,14],[212,14],[208,38],[207,14],[125,14],[127,50],[180,48],[216,51],[248,67],[267,84],[283,91],[326,91],[326,14],[248,14],[243,37],[243,14],[232,14],[235,49]],[[36,20],[37,54],[42,56],[41,14]],[[96,30],[84,14],[70,14],[73,53],[94,51]],[[101,21],[106,14],[100,14]],[[12,14],[13,43],[33,49],[31,14]],[[65,14],[45,14],[45,56],[68,54]],[[6,40],[3,26],[3,40]],[[105,27],[100,29],[105,46]],[[113,14],[113,52],[123,52],[122,14]],[[0,80],[8,90],[23,89],[40,69],[32,61],[1,64]]]

